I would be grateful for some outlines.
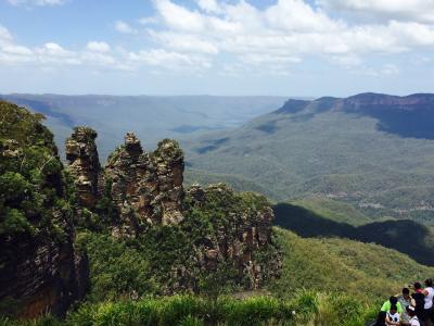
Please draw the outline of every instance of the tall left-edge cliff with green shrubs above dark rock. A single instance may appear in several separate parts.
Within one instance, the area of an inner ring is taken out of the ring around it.
[[[0,313],[62,315],[82,297],[71,189],[42,116],[0,101]]]

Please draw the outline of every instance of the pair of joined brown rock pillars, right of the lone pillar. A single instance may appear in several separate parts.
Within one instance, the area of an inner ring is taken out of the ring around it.
[[[152,225],[182,221],[183,155],[174,140],[163,140],[152,153],[127,134],[125,145],[108,156],[104,178],[117,206],[115,233],[137,235]]]

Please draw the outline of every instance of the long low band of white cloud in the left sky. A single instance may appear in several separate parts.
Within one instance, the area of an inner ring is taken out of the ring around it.
[[[188,47],[188,42],[195,40],[184,39],[174,48]],[[182,42],[186,42],[182,46]],[[203,45],[204,52],[206,43]],[[143,66],[159,68],[163,71],[191,71],[202,72],[210,67],[212,60],[200,54],[182,53],[175,50],[149,49],[129,52],[123,48],[112,50],[104,41],[89,41],[82,49],[66,49],[55,42],[47,42],[35,48],[17,45],[11,33],[0,25],[0,66],[21,65],[37,66],[44,71],[55,71],[67,66],[82,66],[91,68],[104,68],[133,71]]]

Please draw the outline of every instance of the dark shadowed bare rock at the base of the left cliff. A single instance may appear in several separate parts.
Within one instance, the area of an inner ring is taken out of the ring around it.
[[[0,260],[1,313],[34,318],[46,312],[63,316],[88,289],[89,263],[74,248],[72,226],[67,239],[56,242],[48,235],[2,242]]]

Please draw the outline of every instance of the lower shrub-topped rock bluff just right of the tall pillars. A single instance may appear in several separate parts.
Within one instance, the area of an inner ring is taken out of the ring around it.
[[[230,262],[245,288],[257,289],[266,280],[280,276],[282,260],[271,239],[272,209],[260,196],[245,196],[238,197],[224,184],[205,189],[193,185],[188,190],[193,209],[213,214],[216,209],[210,203],[226,203],[225,218],[216,217],[215,231],[196,246],[201,269],[212,272],[218,264]]]

